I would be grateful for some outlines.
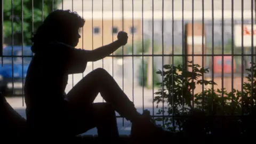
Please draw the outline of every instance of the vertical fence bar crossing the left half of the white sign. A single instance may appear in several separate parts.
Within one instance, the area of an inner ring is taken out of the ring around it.
[[[244,0],[241,1],[241,7],[242,7],[242,28],[244,27]],[[244,115],[244,87],[243,87],[243,83],[244,83],[244,33],[242,30],[242,54],[241,54],[241,95],[242,95],[242,116]]]

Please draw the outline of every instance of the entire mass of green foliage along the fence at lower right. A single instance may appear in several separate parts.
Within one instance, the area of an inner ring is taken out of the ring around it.
[[[191,61],[189,62],[191,63]],[[243,84],[243,92],[233,90],[227,92],[217,89],[204,89],[203,92],[192,91],[196,86],[217,85],[213,81],[202,81],[203,74],[209,73],[209,69],[194,65],[193,71],[182,70],[181,65],[164,65],[164,71],[156,73],[163,76],[164,81],[158,83],[162,89],[155,92],[154,102],[158,106],[165,106],[158,110],[159,115],[168,115],[165,118],[156,118],[156,122],[164,121],[161,125],[164,129],[172,132],[185,134],[241,134],[252,132],[255,126],[255,119],[231,119],[231,115],[255,115],[256,105],[256,65],[246,69],[249,73],[246,77],[248,82]],[[188,65],[188,67],[192,67]],[[253,69],[253,76],[252,76]],[[253,87],[252,87],[253,83]],[[223,97],[222,97],[223,95]],[[243,95],[243,97],[242,97]],[[193,105],[194,99],[194,105]],[[243,102],[242,102],[243,101]],[[243,104],[242,104],[243,103]],[[253,112],[254,111],[254,112]],[[175,116],[177,118],[174,118]],[[178,118],[187,116],[187,118]],[[215,116],[214,118],[211,116]],[[243,129],[241,125],[248,125]],[[254,124],[254,125],[253,125]],[[254,127],[254,128],[253,128]]]

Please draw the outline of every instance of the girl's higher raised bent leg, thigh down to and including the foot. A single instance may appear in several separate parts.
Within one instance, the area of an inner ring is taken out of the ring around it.
[[[69,103],[77,111],[79,111],[78,109],[88,109],[87,107],[93,103],[99,92],[103,99],[111,103],[121,116],[133,123],[132,135],[140,137],[143,134],[146,137],[154,137],[156,133],[159,135],[165,133],[150,121],[149,114],[141,115],[137,112],[115,79],[102,68],[93,70],[70,90],[68,93]],[[83,115],[83,112],[79,114]]]

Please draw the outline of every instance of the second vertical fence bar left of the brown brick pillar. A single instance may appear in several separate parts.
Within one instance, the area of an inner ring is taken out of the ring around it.
[[[173,96],[173,74],[174,74],[174,0],[172,0],[172,126],[173,130],[175,130],[175,124],[174,124],[174,96]],[[163,101],[164,102],[164,101]]]

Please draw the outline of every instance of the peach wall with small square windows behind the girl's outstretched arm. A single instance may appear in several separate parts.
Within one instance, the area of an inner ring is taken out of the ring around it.
[[[141,40],[141,21],[134,20],[134,28],[136,31],[134,33],[134,41]],[[113,21],[114,27],[118,28],[118,31],[122,31],[123,22],[122,20],[114,20]],[[86,50],[97,49],[98,47],[102,46],[102,37],[103,37],[103,45],[107,45],[113,40],[117,39],[117,33],[112,35],[112,20],[104,20],[103,21],[103,35],[102,35],[102,20],[93,20],[93,28],[98,27],[99,33],[92,35],[92,20],[86,20],[85,25],[83,27],[83,35],[81,30],[81,38],[79,39],[79,43],[77,47],[83,48]],[[124,31],[129,36],[128,44],[132,44],[132,33],[130,31],[132,27],[132,20],[124,20]]]

